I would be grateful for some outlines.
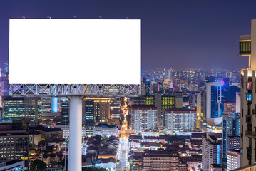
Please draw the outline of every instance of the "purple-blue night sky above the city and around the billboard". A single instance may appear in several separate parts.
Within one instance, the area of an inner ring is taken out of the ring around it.
[[[255,9],[245,0],[0,0],[0,67],[9,56],[9,19],[102,16],[142,20],[142,69],[247,68],[238,39],[250,34]]]

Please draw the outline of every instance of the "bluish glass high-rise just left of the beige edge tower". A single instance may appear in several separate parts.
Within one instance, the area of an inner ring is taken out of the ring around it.
[[[231,150],[227,149],[227,139],[230,136],[240,136],[240,113],[222,116],[222,159],[226,159],[227,150]]]

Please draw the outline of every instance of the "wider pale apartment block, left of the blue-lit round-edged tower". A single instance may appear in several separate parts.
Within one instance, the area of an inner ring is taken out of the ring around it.
[[[187,108],[171,108],[165,110],[165,130],[170,130],[173,135],[175,131],[191,131],[196,129],[196,110]]]

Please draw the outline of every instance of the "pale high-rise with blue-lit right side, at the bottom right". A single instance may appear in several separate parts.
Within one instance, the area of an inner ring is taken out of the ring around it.
[[[210,170],[210,165],[221,165],[221,142],[215,135],[203,135],[202,168]]]

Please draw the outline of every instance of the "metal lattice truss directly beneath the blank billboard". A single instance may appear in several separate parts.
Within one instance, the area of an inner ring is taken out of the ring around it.
[[[121,97],[140,95],[140,84],[11,84],[11,96]]]

